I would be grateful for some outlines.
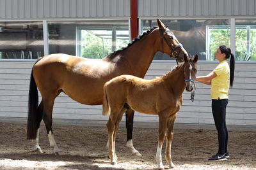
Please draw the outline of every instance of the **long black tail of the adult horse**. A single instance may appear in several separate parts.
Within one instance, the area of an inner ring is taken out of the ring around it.
[[[36,62],[38,62],[39,60],[37,60]],[[28,98],[27,139],[36,138],[36,129],[38,129],[39,127],[38,124],[40,124],[40,122],[38,120],[40,119],[40,117],[42,117],[42,114],[38,113],[38,91],[37,91],[35,78],[33,76],[33,68],[32,68],[31,76],[30,76],[30,85],[29,85],[29,98]]]

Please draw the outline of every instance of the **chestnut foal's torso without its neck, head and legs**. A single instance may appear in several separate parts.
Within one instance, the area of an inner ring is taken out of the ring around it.
[[[173,104],[172,94],[164,85],[163,78],[144,80],[122,75],[108,81],[104,88],[110,108],[116,111],[126,103],[132,110],[157,115],[163,108]]]

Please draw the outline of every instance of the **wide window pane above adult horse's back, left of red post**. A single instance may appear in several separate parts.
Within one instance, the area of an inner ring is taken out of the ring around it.
[[[48,22],[50,53],[100,59],[129,43],[128,20]]]

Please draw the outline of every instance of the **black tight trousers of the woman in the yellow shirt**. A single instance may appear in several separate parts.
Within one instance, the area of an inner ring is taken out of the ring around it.
[[[227,152],[228,130],[226,127],[226,106],[228,99],[212,99],[212,115],[218,131],[219,151],[223,155]]]

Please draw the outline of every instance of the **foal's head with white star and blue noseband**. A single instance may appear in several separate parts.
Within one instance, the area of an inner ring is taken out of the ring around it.
[[[195,55],[194,59],[184,55],[184,77],[186,83],[186,90],[191,92],[193,90],[193,84],[196,76],[197,66],[196,62],[198,60],[198,55]]]

